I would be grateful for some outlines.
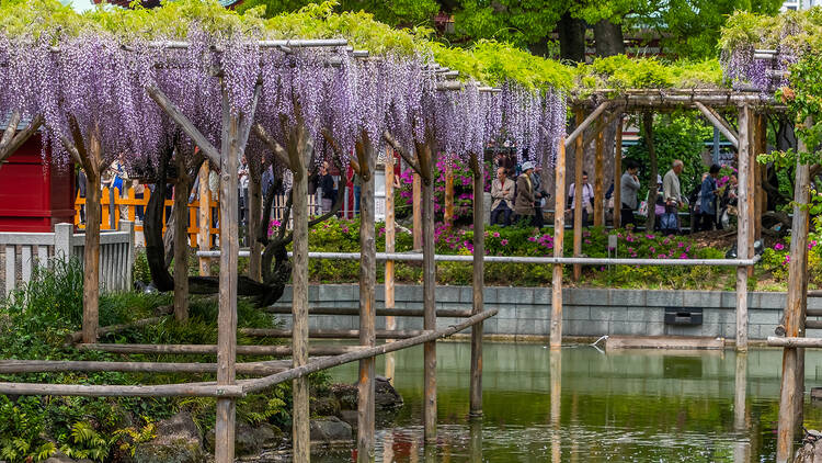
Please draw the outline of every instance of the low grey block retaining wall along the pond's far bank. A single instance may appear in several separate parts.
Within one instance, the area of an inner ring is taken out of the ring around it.
[[[309,289],[311,306],[357,307],[359,287],[351,284],[312,285]],[[384,307],[384,289],[377,287],[377,306]],[[290,302],[290,287],[277,304]],[[548,336],[551,314],[550,287],[487,287],[486,308],[499,308],[499,314],[487,320],[484,332],[510,336]],[[395,306],[422,307],[422,285],[397,285]],[[438,286],[436,301],[439,308],[471,308],[470,286]],[[564,336],[602,335],[682,335],[735,337],[735,293],[712,291],[650,291],[650,290],[594,290],[566,289],[563,291]],[[749,337],[765,339],[774,336],[785,306],[785,293],[749,293]],[[665,307],[703,307],[704,319],[699,326],[665,325]],[[809,298],[809,308],[822,308],[822,298]],[[290,317],[285,316],[286,324]],[[438,326],[455,323],[439,318]],[[310,316],[311,328],[356,329],[357,317]],[[377,328],[385,327],[384,317],[377,318]],[[399,329],[421,329],[422,319],[397,317]]]

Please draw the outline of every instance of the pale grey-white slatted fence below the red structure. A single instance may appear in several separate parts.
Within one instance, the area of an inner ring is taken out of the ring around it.
[[[35,266],[52,259],[77,258],[82,264],[85,234],[72,224],[56,224],[54,233],[0,233],[0,252],[5,261],[4,293],[32,281]],[[119,229],[100,233],[100,285],[106,291],[129,291],[133,285],[134,223],[121,221]]]

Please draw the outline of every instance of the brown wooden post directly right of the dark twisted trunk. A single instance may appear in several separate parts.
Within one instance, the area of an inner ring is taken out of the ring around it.
[[[174,153],[174,319],[189,319],[189,185],[191,178],[181,149]]]

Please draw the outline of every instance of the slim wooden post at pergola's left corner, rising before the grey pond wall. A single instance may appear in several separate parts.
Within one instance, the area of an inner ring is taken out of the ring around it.
[[[559,140],[555,171],[553,257],[562,257],[566,238],[566,143]],[[551,349],[562,347],[562,264],[553,264],[551,276]]]

